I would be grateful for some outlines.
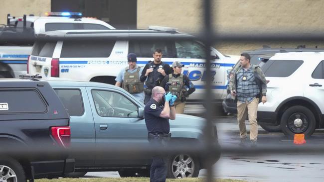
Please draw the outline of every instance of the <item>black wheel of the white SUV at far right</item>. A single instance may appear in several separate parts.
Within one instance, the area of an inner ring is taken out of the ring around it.
[[[311,136],[315,131],[316,119],[313,112],[301,105],[288,108],[281,117],[281,130],[288,137],[295,134]]]

